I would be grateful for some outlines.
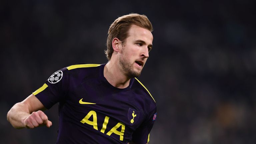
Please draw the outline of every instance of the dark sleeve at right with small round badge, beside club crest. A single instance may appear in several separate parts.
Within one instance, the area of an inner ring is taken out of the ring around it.
[[[149,141],[149,133],[156,120],[156,108],[149,113],[146,121],[142,123],[132,135],[132,141],[136,144],[146,144]]]

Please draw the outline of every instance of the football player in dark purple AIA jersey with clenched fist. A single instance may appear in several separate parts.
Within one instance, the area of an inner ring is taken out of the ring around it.
[[[145,144],[156,119],[155,100],[135,77],[152,48],[145,15],[117,18],[107,39],[107,64],[77,64],[53,73],[7,114],[14,128],[50,127],[41,110],[59,103],[57,143]]]

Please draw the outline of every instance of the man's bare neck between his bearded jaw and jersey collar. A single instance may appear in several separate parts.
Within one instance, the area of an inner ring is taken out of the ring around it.
[[[109,61],[104,67],[104,77],[116,88],[126,88],[129,86],[130,78],[127,77],[118,62]]]

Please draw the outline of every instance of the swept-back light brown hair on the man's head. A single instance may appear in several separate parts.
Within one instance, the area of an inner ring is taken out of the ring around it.
[[[131,13],[128,15],[118,17],[110,25],[108,30],[107,50],[105,50],[105,54],[108,60],[111,59],[111,56],[113,54],[113,39],[118,38],[120,41],[122,41],[122,44],[124,44],[126,38],[128,37],[128,31],[132,24],[148,29],[150,32],[153,31],[152,24],[145,15]]]

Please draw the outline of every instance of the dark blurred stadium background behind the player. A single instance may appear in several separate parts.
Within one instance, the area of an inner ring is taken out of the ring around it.
[[[9,109],[58,69],[106,63],[107,31],[118,17],[148,16],[154,41],[139,80],[157,102],[150,143],[256,143],[256,2],[0,1],[0,140],[53,144],[51,128],[14,129]]]

